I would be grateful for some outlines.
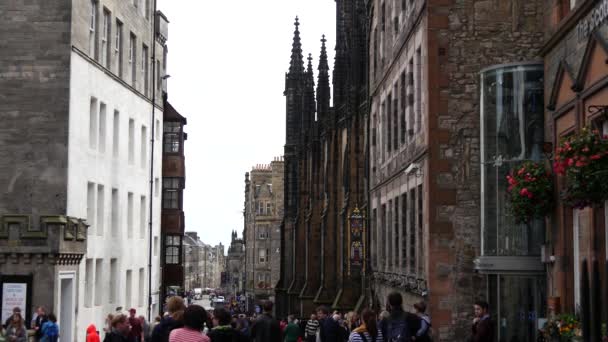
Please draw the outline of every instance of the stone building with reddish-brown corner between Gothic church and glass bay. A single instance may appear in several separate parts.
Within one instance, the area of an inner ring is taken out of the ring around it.
[[[433,334],[464,341],[480,230],[479,73],[538,60],[542,1],[372,1],[371,285],[428,300]],[[427,297],[428,296],[428,297]]]

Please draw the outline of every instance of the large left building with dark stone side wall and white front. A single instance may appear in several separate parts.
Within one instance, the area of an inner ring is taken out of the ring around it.
[[[150,167],[160,175],[161,148],[157,140],[150,165],[148,137],[156,133],[153,107],[156,126],[162,122],[167,36],[154,33],[151,1],[141,6],[114,0],[0,4],[0,61],[6,66],[0,89],[7,96],[0,104],[0,184],[6,189],[0,240],[10,246],[3,251],[22,256],[0,258],[11,263],[4,268],[0,262],[0,273],[6,281],[34,274],[28,305],[57,313],[65,340],[83,340],[85,332],[76,327],[101,326],[117,306],[139,312],[158,306],[158,295],[148,296],[148,289],[158,287],[159,255],[151,270],[148,256],[158,251],[160,196],[150,193],[149,176]],[[138,37],[131,62],[130,32]],[[152,63],[155,50],[160,58]],[[121,64],[125,70],[132,65],[135,77],[119,73]],[[134,178],[140,181],[125,184]],[[135,240],[146,248],[131,248]],[[83,253],[86,260],[79,262]]]

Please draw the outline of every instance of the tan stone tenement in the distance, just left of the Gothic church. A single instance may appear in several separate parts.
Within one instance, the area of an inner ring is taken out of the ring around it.
[[[279,280],[283,177],[282,158],[245,174],[245,290],[256,300],[274,296]]]

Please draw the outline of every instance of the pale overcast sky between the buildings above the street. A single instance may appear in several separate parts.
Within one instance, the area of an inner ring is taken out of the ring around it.
[[[186,231],[205,243],[222,242],[227,251],[231,231],[243,230],[245,172],[283,155],[283,90],[296,15],[316,83],[322,34],[333,69],[335,6],[334,0],[158,0],[170,22],[169,102],[188,119]]]

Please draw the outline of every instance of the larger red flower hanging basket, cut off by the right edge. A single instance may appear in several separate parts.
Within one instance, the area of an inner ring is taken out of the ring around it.
[[[608,137],[582,129],[565,138],[556,150],[553,169],[565,177],[564,203],[582,209],[608,199]]]

